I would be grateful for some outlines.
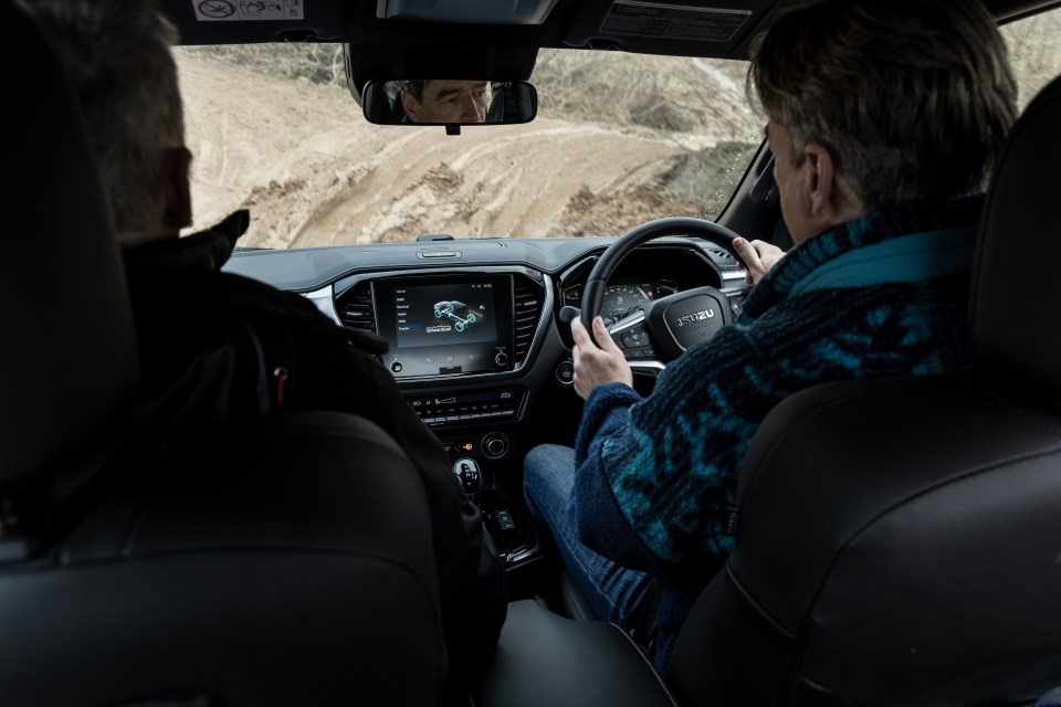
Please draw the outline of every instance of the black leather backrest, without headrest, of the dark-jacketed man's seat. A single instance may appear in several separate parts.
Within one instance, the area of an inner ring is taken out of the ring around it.
[[[439,703],[430,510],[405,454],[346,413],[231,440],[134,469],[48,555],[0,564],[0,703]]]

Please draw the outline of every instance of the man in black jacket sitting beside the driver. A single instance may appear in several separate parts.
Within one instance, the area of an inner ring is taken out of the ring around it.
[[[427,489],[459,686],[493,654],[507,608],[505,570],[441,443],[374,356],[386,344],[335,325],[305,297],[221,272],[246,212],[178,238],[191,224],[191,154],[170,51],[176,31],[151,2],[23,4],[55,45],[101,162],[140,346],[143,409],[157,415],[151,429],[217,430],[263,414],[337,410],[386,430]]]

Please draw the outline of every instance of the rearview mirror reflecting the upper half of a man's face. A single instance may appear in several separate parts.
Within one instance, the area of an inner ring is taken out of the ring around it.
[[[361,107],[377,125],[529,123],[538,112],[538,94],[526,81],[369,80]]]

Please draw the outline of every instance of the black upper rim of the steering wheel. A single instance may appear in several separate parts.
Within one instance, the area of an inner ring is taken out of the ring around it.
[[[582,289],[582,308],[579,313],[579,318],[582,320],[586,330],[589,331],[590,338],[593,338],[593,318],[600,314],[600,307],[605,300],[605,289],[608,287],[608,281],[616,272],[619,263],[638,246],[662,235],[692,235],[703,238],[726,249],[737,261],[743,262],[733,249],[733,239],[739,238],[738,234],[714,221],[693,219],[690,217],[669,217],[648,221],[634,226],[608,246],[608,250],[606,250],[597,263],[593,264],[593,268],[589,273],[589,278],[586,281]],[[599,344],[596,338],[593,338],[593,341]]]

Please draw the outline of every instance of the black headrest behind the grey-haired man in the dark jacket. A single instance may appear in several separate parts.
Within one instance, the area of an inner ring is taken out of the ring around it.
[[[0,0],[0,493],[113,429],[138,380],[120,255],[80,110],[36,25]]]

